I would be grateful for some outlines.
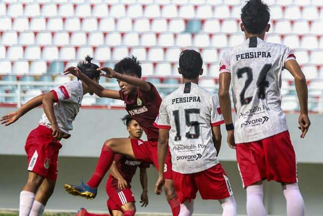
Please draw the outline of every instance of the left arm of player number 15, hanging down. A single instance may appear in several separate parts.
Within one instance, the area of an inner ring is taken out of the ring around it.
[[[169,137],[169,130],[167,129],[159,129],[159,138],[158,138],[158,166],[159,166],[159,177],[155,184],[155,193],[160,195],[161,194],[161,187],[165,184],[164,179],[164,164],[166,153],[168,149],[168,137]]]

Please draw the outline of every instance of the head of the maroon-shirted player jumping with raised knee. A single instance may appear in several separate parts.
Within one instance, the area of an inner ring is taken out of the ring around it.
[[[114,65],[114,70],[120,74],[141,78],[140,62],[135,56],[123,58]],[[120,80],[118,80],[118,83],[121,91],[125,95],[129,95],[137,89],[137,87]]]

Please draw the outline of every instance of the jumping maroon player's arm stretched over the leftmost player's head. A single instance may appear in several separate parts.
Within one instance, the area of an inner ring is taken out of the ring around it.
[[[118,91],[105,89],[100,84],[85,76],[77,67],[69,67],[64,71],[64,75],[72,74],[79,78],[92,92],[100,98],[112,98],[120,100]]]

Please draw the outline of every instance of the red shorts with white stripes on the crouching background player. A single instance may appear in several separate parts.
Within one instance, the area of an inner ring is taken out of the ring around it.
[[[121,207],[126,203],[135,202],[135,197],[130,189],[130,187],[126,189],[119,189],[117,186],[112,186],[113,177],[109,177],[108,181],[105,185],[105,191],[109,196],[107,201],[107,206],[112,215],[112,210],[122,211]]]

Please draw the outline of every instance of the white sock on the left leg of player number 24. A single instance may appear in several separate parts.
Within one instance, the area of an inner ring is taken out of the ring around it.
[[[266,216],[266,210],[262,202],[262,185],[251,185],[247,187],[247,215]]]

